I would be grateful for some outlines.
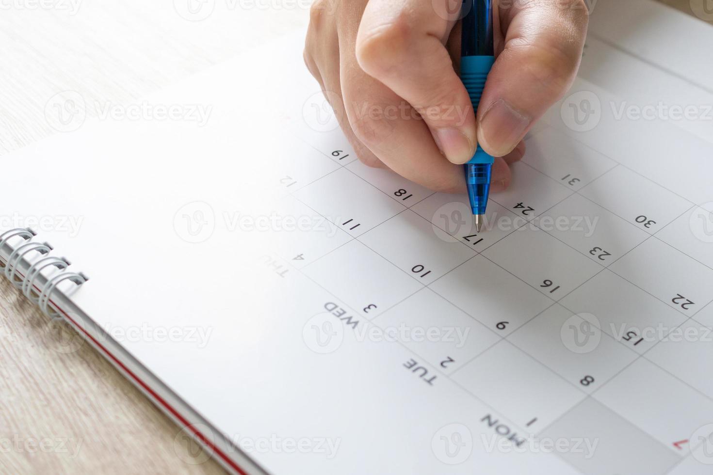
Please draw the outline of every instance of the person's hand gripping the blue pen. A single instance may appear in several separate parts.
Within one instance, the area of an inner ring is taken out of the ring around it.
[[[523,156],[525,133],[575,78],[588,10],[585,0],[493,4],[498,58],[476,120],[453,68],[460,0],[314,1],[304,60],[362,162],[463,192],[458,165],[479,142],[502,157],[493,191],[508,186],[508,163]]]

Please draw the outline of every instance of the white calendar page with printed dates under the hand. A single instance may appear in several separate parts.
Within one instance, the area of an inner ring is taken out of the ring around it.
[[[270,473],[708,474],[713,137],[629,106],[710,93],[637,56],[647,31],[597,38],[613,8],[482,233],[356,160],[298,37],[148,99],[205,126],[88,121],[0,196],[81,218],[39,237],[90,276],[82,317]]]

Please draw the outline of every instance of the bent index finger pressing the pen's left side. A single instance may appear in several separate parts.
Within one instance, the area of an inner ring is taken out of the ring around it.
[[[438,12],[447,11],[449,1],[369,1],[356,58],[364,72],[414,107],[448,160],[463,164],[476,150],[476,117],[444,46],[455,22]]]

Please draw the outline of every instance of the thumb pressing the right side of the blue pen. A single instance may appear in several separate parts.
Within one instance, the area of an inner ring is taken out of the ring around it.
[[[505,48],[478,107],[478,142],[490,155],[512,152],[577,74],[589,15],[583,0],[501,4]]]

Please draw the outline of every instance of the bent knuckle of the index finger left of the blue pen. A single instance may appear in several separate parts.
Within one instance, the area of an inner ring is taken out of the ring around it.
[[[404,16],[370,31],[359,31],[356,61],[367,73],[387,73],[404,61],[413,36],[413,27]]]

